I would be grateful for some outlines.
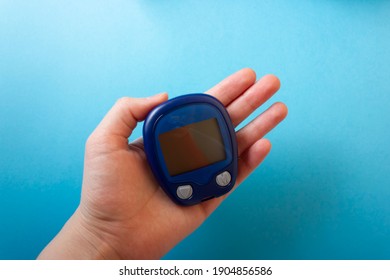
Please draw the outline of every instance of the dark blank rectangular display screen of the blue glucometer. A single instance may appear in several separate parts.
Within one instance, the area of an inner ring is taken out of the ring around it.
[[[160,134],[158,139],[171,176],[226,159],[216,118],[175,128]]]

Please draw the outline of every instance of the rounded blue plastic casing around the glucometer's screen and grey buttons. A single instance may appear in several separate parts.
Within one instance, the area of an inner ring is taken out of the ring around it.
[[[216,119],[218,122],[225,158],[195,170],[170,175],[164,161],[159,135],[208,119]],[[216,98],[202,93],[188,94],[158,105],[145,119],[143,138],[150,168],[157,182],[174,202],[193,205],[226,194],[233,188],[238,161],[236,133],[228,112]],[[221,187],[216,182],[216,176],[225,171],[230,173],[231,181],[227,186]],[[178,197],[177,188],[183,185],[192,186],[192,195],[188,199]]]

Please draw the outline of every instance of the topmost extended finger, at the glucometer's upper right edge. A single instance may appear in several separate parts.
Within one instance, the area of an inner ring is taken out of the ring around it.
[[[255,71],[244,68],[225,78],[206,93],[217,98],[226,107],[255,82]]]

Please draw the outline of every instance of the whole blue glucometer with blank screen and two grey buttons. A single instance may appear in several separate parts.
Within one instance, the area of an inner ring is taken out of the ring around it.
[[[193,205],[229,192],[237,177],[237,141],[225,107],[188,94],[155,107],[143,127],[151,170],[170,198]]]

